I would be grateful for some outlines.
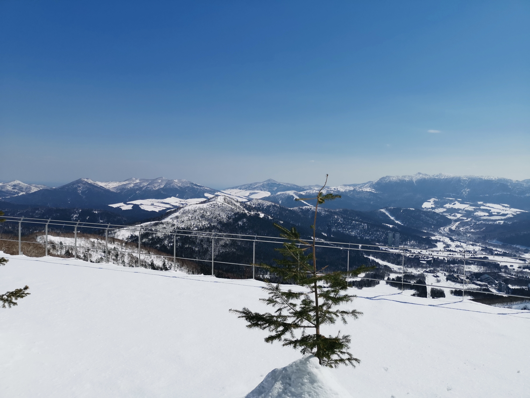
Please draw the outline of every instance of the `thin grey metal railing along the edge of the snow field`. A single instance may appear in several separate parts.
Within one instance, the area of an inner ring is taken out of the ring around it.
[[[64,220],[51,220],[51,219],[36,219],[36,218],[20,218],[20,217],[3,217],[6,222],[18,222],[19,223],[19,230],[18,230],[18,244],[19,244],[19,254],[22,255],[22,243],[28,243],[28,244],[40,244],[45,245],[45,255],[48,256],[48,249],[49,249],[49,243],[48,243],[48,228],[49,226],[58,226],[58,227],[72,227],[74,229],[74,245],[63,245],[64,247],[72,247],[73,248],[73,254],[74,258],[77,259],[77,232],[78,228],[84,228],[84,229],[92,229],[95,231],[105,231],[105,248],[104,248],[104,261],[105,263],[109,262],[109,231],[131,231],[133,233],[138,233],[138,250],[136,251],[130,251],[130,250],[116,250],[112,249],[113,252],[118,253],[128,253],[128,254],[134,254],[138,256],[138,266],[140,266],[141,262],[141,256],[142,256],[142,233],[162,233],[164,235],[173,236],[173,256],[169,255],[161,255],[157,254],[156,256],[159,257],[165,257],[168,259],[173,259],[173,270],[176,270],[176,264],[177,260],[189,260],[189,261],[195,261],[195,262],[210,262],[211,261],[211,275],[214,276],[214,264],[226,264],[226,265],[237,265],[237,266],[249,266],[252,267],[252,278],[255,279],[255,267],[259,267],[259,264],[255,264],[255,256],[256,256],[256,243],[267,243],[267,244],[278,244],[282,245],[287,240],[285,238],[279,238],[279,237],[269,237],[269,236],[260,236],[260,235],[244,235],[240,233],[226,233],[226,232],[210,232],[210,231],[193,231],[193,230],[184,230],[184,229],[173,229],[173,228],[162,228],[162,227],[151,227],[151,226],[125,226],[125,225],[119,225],[119,224],[102,224],[102,223],[90,223],[90,222],[81,222],[81,221],[64,221]],[[23,241],[22,240],[22,223],[32,223],[32,224],[42,224],[45,228],[45,242],[30,242],[30,241]],[[182,236],[182,237],[195,237],[195,238],[209,238],[211,239],[211,260],[210,259],[201,259],[201,258],[190,258],[190,257],[179,257],[176,253],[176,237]],[[236,263],[236,262],[226,262],[226,261],[218,261],[214,257],[214,249],[215,249],[215,239],[228,239],[228,240],[236,240],[236,241],[245,241],[245,242],[252,242],[252,263]],[[3,239],[0,238],[0,240],[8,240],[13,241],[13,239]],[[303,246],[303,245],[301,245]],[[367,278],[366,276],[360,277],[356,276],[355,278],[362,279],[362,280],[370,280],[370,281],[379,281],[379,282],[390,282],[391,284],[399,284],[401,283],[401,290],[403,292],[405,286],[408,285],[419,285],[419,286],[425,286],[425,287],[434,287],[434,288],[443,288],[443,289],[456,289],[460,290],[458,287],[451,287],[451,286],[442,286],[442,285],[434,285],[434,284],[423,284],[423,283],[413,283],[413,282],[405,282],[404,281],[404,275],[405,275],[405,263],[404,259],[405,256],[407,257],[417,257],[417,256],[424,256],[424,257],[432,257],[432,258],[446,258],[446,259],[454,259],[454,260],[462,260],[463,261],[463,279],[462,279],[462,299],[464,299],[465,292],[473,293],[473,292],[480,292],[483,294],[491,294],[491,295],[501,295],[506,297],[519,297],[524,298],[527,300],[530,300],[530,296],[519,296],[519,295],[511,295],[508,293],[502,293],[502,292],[486,292],[486,291],[477,291],[475,289],[466,289],[466,280],[465,280],[465,267],[466,262],[485,262],[485,263],[508,263],[508,264],[517,264],[517,265],[523,265],[530,263],[530,258],[528,257],[517,257],[517,256],[509,256],[509,258],[519,261],[509,261],[506,259],[506,255],[490,255],[487,253],[470,253],[470,252],[456,252],[451,250],[442,250],[442,249],[429,249],[429,248],[415,248],[415,247],[407,247],[407,246],[387,246],[387,245],[367,245],[367,244],[357,244],[357,243],[345,243],[345,242],[335,242],[335,241],[325,241],[325,240],[317,240],[317,243],[315,245],[319,248],[329,248],[329,249],[340,249],[340,250],[347,250],[347,264],[346,268],[347,271],[349,271],[349,263],[350,263],[350,250],[359,250],[361,252],[374,252],[374,253],[386,253],[386,254],[400,254],[402,258],[402,264],[401,264],[401,281],[388,281],[384,279],[374,279],[374,278]],[[97,250],[101,251],[103,249],[101,248],[85,248],[85,250]],[[488,257],[500,257],[500,258],[476,258],[476,255],[487,255]]]

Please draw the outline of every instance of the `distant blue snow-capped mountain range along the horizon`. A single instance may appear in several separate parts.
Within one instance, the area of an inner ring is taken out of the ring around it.
[[[130,178],[125,181],[93,181],[81,178],[57,188],[28,185],[11,181],[0,185],[3,200],[40,206],[98,208],[133,201],[168,199],[205,199],[230,195],[241,201],[263,199],[287,207],[305,206],[296,202],[298,197],[311,197],[319,186],[299,186],[279,183],[269,179],[261,183],[244,184],[222,191],[187,180],[167,178]],[[326,207],[372,211],[386,207],[412,207],[421,209],[431,198],[457,200],[469,203],[509,204],[511,207],[530,211],[530,179],[515,181],[507,178],[481,176],[430,176],[418,173],[413,176],[387,176],[364,184],[347,184],[326,187],[325,192],[342,195],[340,201],[329,202]],[[164,202],[161,202],[164,203]],[[308,202],[311,203],[311,202]],[[135,203],[129,203],[135,205]],[[140,206],[142,203],[138,203]],[[444,203],[445,204],[445,203]],[[115,206],[120,208],[120,206]],[[174,206],[159,206],[170,209]],[[132,208],[132,207],[130,207]],[[123,209],[126,210],[126,209]],[[128,209],[127,209],[128,210]],[[151,209],[156,211],[157,209]],[[161,210],[161,209],[158,209]]]

